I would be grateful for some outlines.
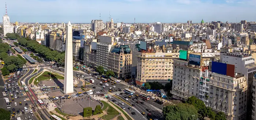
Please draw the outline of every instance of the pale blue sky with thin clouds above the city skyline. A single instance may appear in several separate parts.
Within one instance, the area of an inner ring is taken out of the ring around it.
[[[255,21],[256,0],[0,0],[11,22],[90,23],[99,19],[115,23],[193,23]]]

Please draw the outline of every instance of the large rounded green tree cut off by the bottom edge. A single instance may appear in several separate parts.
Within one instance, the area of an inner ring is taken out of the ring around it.
[[[197,109],[190,104],[181,103],[163,107],[165,120],[197,120]]]

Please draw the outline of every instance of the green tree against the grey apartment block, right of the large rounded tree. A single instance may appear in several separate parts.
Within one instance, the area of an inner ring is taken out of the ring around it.
[[[195,96],[189,97],[188,100],[186,101],[188,104],[192,104],[195,106],[197,109],[198,113],[202,115],[203,117],[207,116],[206,115],[206,107],[205,104],[202,100],[197,99]]]

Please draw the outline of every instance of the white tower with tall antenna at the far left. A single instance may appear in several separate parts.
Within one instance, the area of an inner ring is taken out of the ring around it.
[[[5,3],[5,15],[3,16],[3,31],[4,31],[4,36],[7,33],[13,33],[13,28],[10,24],[10,17],[7,15],[6,3]]]

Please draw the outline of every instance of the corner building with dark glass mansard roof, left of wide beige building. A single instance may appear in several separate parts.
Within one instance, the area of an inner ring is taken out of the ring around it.
[[[109,52],[108,69],[121,79],[131,78],[132,52],[129,45],[112,47]]]

